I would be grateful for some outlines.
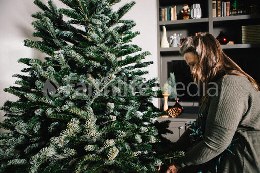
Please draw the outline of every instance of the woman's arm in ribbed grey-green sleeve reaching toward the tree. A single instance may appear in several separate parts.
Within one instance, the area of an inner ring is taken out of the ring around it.
[[[174,161],[178,169],[205,163],[229,146],[242,115],[248,108],[248,88],[239,85],[241,79],[243,80],[242,77],[233,75],[225,76],[219,84],[218,95],[210,98],[203,140],[184,157]]]

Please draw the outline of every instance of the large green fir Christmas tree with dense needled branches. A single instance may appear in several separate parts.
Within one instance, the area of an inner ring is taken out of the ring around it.
[[[24,43],[47,57],[19,59],[28,75],[15,74],[20,87],[4,90],[19,100],[2,107],[0,126],[10,132],[0,136],[1,172],[154,172],[181,156],[161,155],[169,130],[151,102],[162,96],[157,79],[141,77],[149,52],[131,56],[141,51],[129,44],[139,32],[121,18],[135,2],[114,12],[119,0],[61,1],[67,9],[34,1],[43,12],[32,15],[33,36],[42,41]]]

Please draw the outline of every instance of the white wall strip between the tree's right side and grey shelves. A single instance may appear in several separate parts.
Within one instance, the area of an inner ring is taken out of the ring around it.
[[[117,10],[120,6],[130,2],[130,0],[121,0],[114,6]],[[146,56],[144,61],[153,61],[147,70],[149,74],[144,75],[146,79],[158,77],[158,60],[157,60],[157,18],[156,18],[156,0],[136,0],[136,4],[128,11],[123,19],[132,19],[136,26],[132,31],[140,31],[132,43],[142,48],[142,51],[149,51],[150,56]],[[158,106],[158,99],[153,100],[153,104]]]

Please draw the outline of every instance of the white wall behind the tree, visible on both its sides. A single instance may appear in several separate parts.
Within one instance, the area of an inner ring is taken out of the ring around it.
[[[54,0],[58,8],[63,7],[62,3]],[[122,0],[113,8],[117,9],[130,0]],[[133,19],[137,25],[133,31],[140,31],[141,34],[133,39],[133,44],[140,46],[143,51],[150,51],[151,55],[146,57],[147,61],[154,61],[149,66],[147,79],[158,77],[157,70],[157,27],[156,27],[156,0],[136,0],[134,7],[124,16],[124,19]],[[45,55],[37,50],[24,46],[24,39],[37,40],[31,36],[34,28],[31,22],[35,19],[32,13],[40,11],[34,5],[33,0],[1,0],[0,1],[0,106],[6,100],[15,101],[17,97],[4,93],[3,89],[14,85],[18,78],[12,77],[13,74],[21,74],[20,70],[26,65],[17,63],[19,58],[38,58],[42,59]],[[43,0],[47,4],[47,0]],[[158,101],[154,100],[157,105]],[[3,112],[0,114],[0,121],[3,121]]]

